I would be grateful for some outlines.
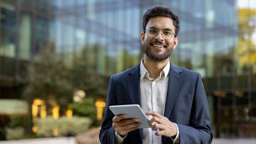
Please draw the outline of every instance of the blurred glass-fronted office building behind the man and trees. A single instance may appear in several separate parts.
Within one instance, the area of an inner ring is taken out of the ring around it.
[[[173,63],[200,72],[216,137],[256,136],[256,3],[252,0],[0,0],[0,99],[19,99],[26,66],[54,46],[67,65],[86,50],[110,76],[141,61],[141,15],[181,19]]]

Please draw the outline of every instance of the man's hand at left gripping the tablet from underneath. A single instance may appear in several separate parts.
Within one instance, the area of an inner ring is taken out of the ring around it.
[[[125,119],[125,116],[125,114],[117,115],[112,119],[112,126],[114,127],[115,131],[121,136],[125,136],[128,132],[134,131],[141,126],[138,118]]]

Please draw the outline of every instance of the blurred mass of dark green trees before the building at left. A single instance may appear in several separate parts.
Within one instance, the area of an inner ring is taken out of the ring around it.
[[[78,89],[93,99],[107,94],[109,77],[99,76],[98,72],[88,67],[86,49],[72,61],[71,67],[65,64],[54,48],[45,49],[29,64],[28,75],[24,97],[29,104],[34,99],[54,100],[62,109],[67,109]]]

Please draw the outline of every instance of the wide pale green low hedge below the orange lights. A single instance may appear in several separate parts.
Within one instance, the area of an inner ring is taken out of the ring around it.
[[[84,117],[73,116],[72,118],[61,117],[54,120],[48,116],[45,119],[39,119],[35,122],[37,127],[37,136],[53,136],[54,129],[58,129],[58,136],[77,135],[80,132],[87,131],[92,120]]]

